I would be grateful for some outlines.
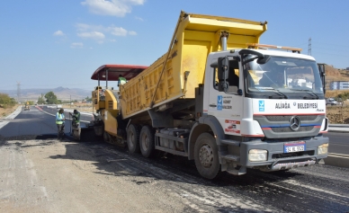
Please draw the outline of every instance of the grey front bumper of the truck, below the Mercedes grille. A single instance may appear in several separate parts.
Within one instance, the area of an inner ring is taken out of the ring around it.
[[[306,145],[305,151],[284,153],[284,146],[288,143],[297,143],[304,141]],[[222,143],[228,144],[228,153],[231,156],[233,153],[237,154],[237,148],[239,148],[239,156],[235,157],[235,164],[244,166],[247,168],[256,168],[264,171],[278,171],[286,170],[297,167],[304,167],[318,162],[327,157],[325,155],[318,155],[318,146],[327,144],[328,138],[315,137],[282,142],[266,142],[262,140],[254,140],[250,142],[229,143],[228,140],[223,140]],[[237,147],[238,146],[238,147]],[[266,161],[250,161],[248,154],[251,149],[266,150]],[[226,156],[222,158],[227,159]]]

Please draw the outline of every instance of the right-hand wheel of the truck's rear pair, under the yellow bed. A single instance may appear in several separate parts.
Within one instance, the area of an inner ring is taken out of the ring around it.
[[[139,134],[140,152],[145,157],[150,157],[155,153],[155,133],[149,126],[144,126]]]

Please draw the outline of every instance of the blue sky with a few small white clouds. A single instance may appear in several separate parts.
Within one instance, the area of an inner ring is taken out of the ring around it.
[[[0,90],[93,90],[105,64],[149,66],[166,53],[180,12],[268,22],[262,44],[301,48],[349,67],[347,0],[16,0],[0,6]]]

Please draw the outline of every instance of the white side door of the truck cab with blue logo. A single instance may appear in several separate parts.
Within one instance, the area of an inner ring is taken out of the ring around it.
[[[243,72],[237,60],[229,60],[228,92],[219,92],[218,68],[210,72],[210,90],[208,114],[215,116],[224,132],[228,135],[240,135],[243,97],[237,90],[243,85]]]

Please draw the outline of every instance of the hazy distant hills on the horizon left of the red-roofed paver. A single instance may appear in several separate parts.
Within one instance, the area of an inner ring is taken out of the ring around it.
[[[64,88],[57,87],[54,89],[22,89],[21,90],[21,100],[25,101],[38,101],[38,98],[41,94],[46,94],[49,92],[53,92],[56,94],[58,100],[69,101],[69,100],[77,100],[81,101],[85,99],[87,96],[91,97],[91,91],[78,89],[78,88]],[[0,93],[7,93],[10,97],[17,99],[17,91],[16,90],[0,90]]]

